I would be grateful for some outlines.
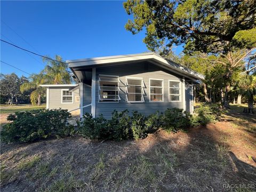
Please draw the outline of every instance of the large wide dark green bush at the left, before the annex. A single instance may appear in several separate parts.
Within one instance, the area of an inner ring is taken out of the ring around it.
[[[69,125],[71,114],[63,109],[18,111],[7,117],[11,123],[3,126],[1,139],[5,142],[31,142],[48,137],[66,137],[73,134]]]

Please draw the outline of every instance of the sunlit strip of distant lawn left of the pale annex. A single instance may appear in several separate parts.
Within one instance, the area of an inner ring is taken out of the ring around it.
[[[1,114],[10,114],[15,113],[17,111],[28,111],[34,109],[45,109],[46,105],[43,104],[42,106],[33,106],[33,105],[1,105]]]

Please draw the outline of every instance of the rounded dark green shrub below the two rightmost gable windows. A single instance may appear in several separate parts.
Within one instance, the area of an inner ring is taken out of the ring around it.
[[[162,127],[167,132],[178,132],[190,125],[190,115],[183,109],[168,108],[162,116]]]

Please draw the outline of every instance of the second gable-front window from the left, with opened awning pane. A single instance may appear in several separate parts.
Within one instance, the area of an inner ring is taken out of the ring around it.
[[[143,79],[132,77],[126,78],[126,101],[144,102]]]

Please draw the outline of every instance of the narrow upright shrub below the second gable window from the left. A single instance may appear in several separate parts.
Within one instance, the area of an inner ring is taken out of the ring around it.
[[[132,123],[131,123],[131,130],[133,139],[140,139],[147,137],[147,126],[145,124],[146,117],[138,111],[132,112]]]

